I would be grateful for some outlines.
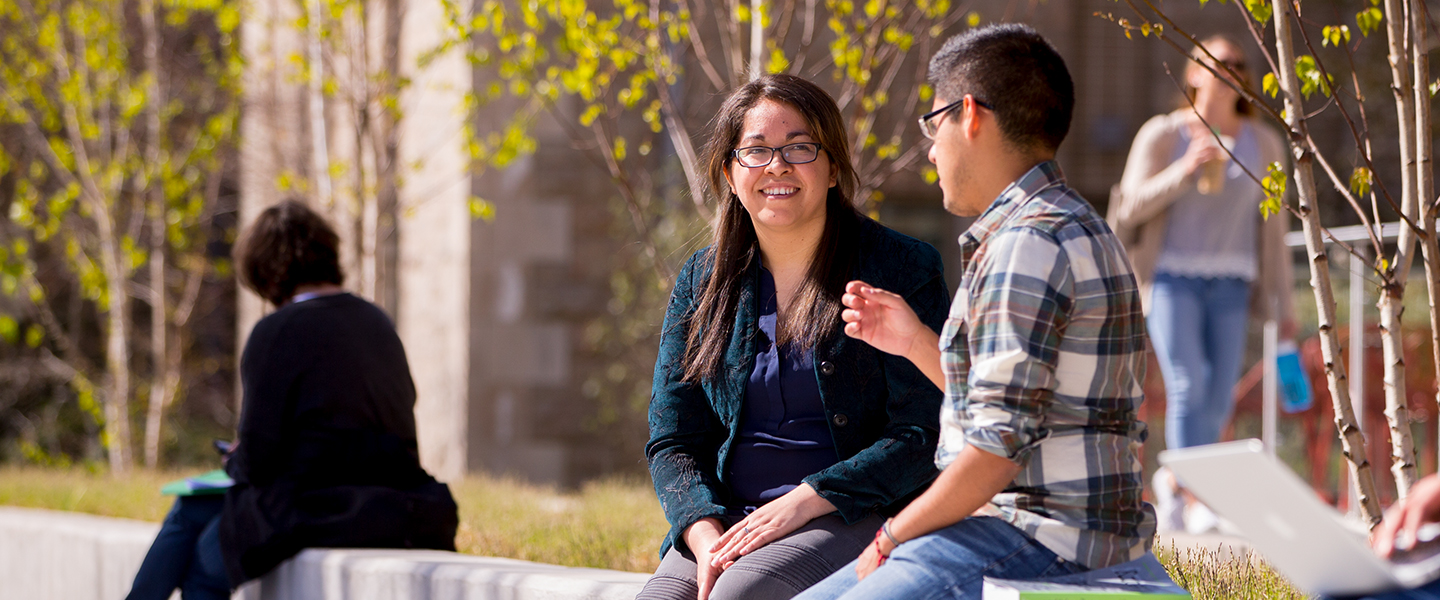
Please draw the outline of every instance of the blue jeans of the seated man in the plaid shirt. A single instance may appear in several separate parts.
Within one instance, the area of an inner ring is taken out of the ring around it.
[[[1005,521],[971,517],[900,544],[864,581],[855,578],[851,561],[795,600],[979,600],[985,577],[1022,580],[1083,570]]]

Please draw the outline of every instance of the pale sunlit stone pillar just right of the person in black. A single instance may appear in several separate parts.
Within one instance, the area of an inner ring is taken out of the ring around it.
[[[438,0],[413,0],[400,29],[399,301],[396,325],[419,401],[420,462],[442,481],[465,472],[469,393],[469,196],[464,96],[471,69],[459,47],[418,69],[445,37]]]

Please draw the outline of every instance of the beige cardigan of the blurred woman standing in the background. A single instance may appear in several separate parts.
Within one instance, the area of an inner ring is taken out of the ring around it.
[[[1135,135],[1130,157],[1125,161],[1125,176],[1110,190],[1110,207],[1106,220],[1125,245],[1140,283],[1140,299],[1145,312],[1151,309],[1151,283],[1155,276],[1155,260],[1159,259],[1165,242],[1165,226],[1169,222],[1169,206],[1182,193],[1195,186],[1195,174],[1185,173],[1179,163],[1172,163],[1181,131],[1195,121],[1189,109],[1151,118]],[[1260,145],[1263,164],[1279,161],[1286,164],[1284,142],[1280,134],[1251,121],[1251,131]],[[1256,173],[1264,177],[1264,173]],[[1260,210],[1256,209],[1256,219]],[[1256,245],[1259,278],[1250,294],[1250,314],[1259,319],[1277,322],[1295,318],[1293,268],[1290,249],[1284,246],[1284,233],[1290,230],[1290,214],[1282,210],[1260,223],[1260,239]]]

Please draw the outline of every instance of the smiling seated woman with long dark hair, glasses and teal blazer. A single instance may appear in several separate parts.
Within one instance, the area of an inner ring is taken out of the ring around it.
[[[671,529],[641,599],[789,599],[936,475],[940,390],[845,337],[840,298],[893,285],[937,329],[940,256],[855,212],[844,131],[789,75],[736,89],[711,124],[720,214],[661,332],[645,453]]]

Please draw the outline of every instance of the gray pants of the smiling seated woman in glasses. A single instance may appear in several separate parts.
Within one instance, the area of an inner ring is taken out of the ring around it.
[[[720,574],[710,600],[788,600],[855,560],[876,538],[884,518],[870,515],[845,525],[838,515],[819,517],[795,532],[740,557]],[[670,548],[635,600],[696,600],[696,557]]]

